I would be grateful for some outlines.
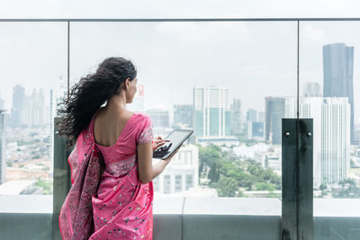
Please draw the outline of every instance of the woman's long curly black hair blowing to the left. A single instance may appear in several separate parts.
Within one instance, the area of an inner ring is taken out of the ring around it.
[[[119,93],[119,87],[127,78],[137,76],[136,67],[125,58],[106,58],[94,74],[82,77],[70,94],[59,103],[58,135],[75,144],[81,131],[86,129],[94,113],[112,95]]]

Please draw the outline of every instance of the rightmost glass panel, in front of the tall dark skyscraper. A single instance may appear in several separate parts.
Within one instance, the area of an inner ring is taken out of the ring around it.
[[[359,236],[358,29],[359,22],[301,23],[300,114],[313,118],[315,239]]]

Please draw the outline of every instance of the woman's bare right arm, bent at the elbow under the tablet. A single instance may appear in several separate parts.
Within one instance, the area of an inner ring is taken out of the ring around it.
[[[179,147],[180,148],[180,147]],[[139,161],[139,180],[143,183],[151,182],[158,174],[162,173],[171,158],[179,150],[177,148],[171,156],[166,160],[160,160],[157,164],[152,164],[152,143],[144,143],[138,145],[138,161]]]

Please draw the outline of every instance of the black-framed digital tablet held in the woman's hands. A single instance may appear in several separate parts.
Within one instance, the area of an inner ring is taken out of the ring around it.
[[[170,156],[177,147],[180,147],[184,141],[193,134],[193,130],[187,129],[176,129],[173,130],[169,135],[164,138],[164,140],[170,140],[166,142],[163,146],[157,147],[154,151],[153,157],[158,159],[166,159]]]

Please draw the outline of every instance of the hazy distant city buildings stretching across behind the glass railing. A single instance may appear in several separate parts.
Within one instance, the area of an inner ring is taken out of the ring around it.
[[[334,43],[323,46],[322,52],[322,87],[311,81],[303,84],[299,114],[301,118],[313,119],[314,188],[321,191],[317,196],[328,194],[330,197],[331,192],[327,193],[326,189],[344,187],[349,179],[360,184],[360,128],[354,123],[354,47]],[[0,184],[37,180],[38,187],[26,192],[44,193],[44,181],[52,179],[52,121],[56,106],[66,93],[64,85],[50,90],[49,101],[45,101],[41,89],[34,89],[28,96],[22,85],[15,85],[11,111],[4,111],[4,101],[0,99]],[[175,104],[173,122],[165,107],[145,110],[145,99],[145,87],[139,84],[128,109],[150,116],[154,136],[165,137],[172,129],[194,129],[193,137],[154,180],[155,191],[175,195],[264,196],[261,195],[264,192],[253,191],[257,186],[255,190],[266,190],[273,194],[271,196],[277,196],[275,193],[281,189],[278,177],[282,173],[281,124],[283,118],[296,118],[296,96],[269,95],[264,99],[265,111],[249,108],[245,112],[241,99],[230,99],[229,87],[194,86],[193,104]],[[45,102],[49,102],[49,106]],[[211,148],[213,146],[220,148]],[[209,162],[206,152],[209,149],[212,154],[218,151],[225,160]],[[221,177],[220,167],[228,160],[244,173],[249,172],[241,163],[256,164],[261,171],[269,169],[276,180],[258,179],[250,185],[234,183],[233,190],[229,191],[229,184],[221,181],[240,181],[231,179],[230,173],[225,174],[226,179]],[[26,184],[33,186],[33,183]],[[268,185],[264,187],[265,184]]]

